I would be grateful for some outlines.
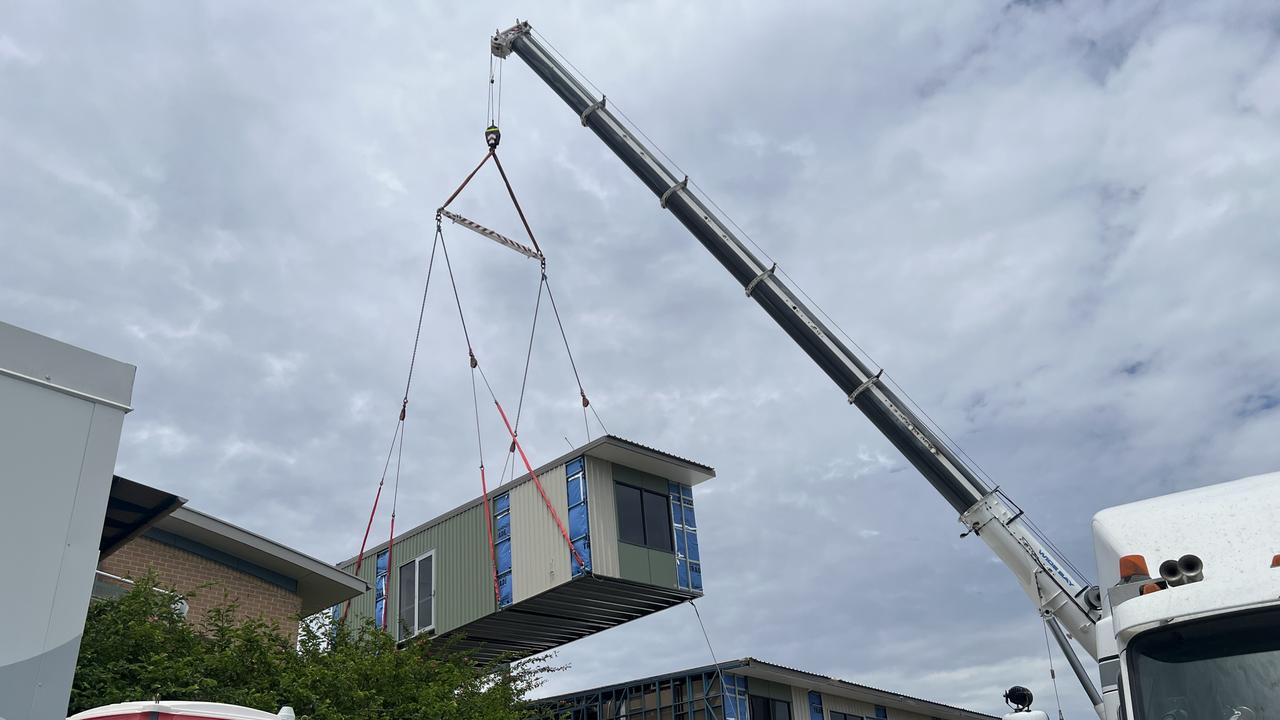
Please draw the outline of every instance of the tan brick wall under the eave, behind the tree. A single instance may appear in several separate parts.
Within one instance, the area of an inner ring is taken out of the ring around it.
[[[193,552],[138,537],[99,562],[97,569],[131,579],[154,569],[161,585],[187,596],[191,623],[200,624],[211,607],[234,601],[241,618],[262,618],[297,637],[302,609],[297,594]]]

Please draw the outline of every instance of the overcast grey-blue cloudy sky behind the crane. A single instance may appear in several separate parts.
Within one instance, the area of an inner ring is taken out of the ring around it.
[[[1094,511],[1280,466],[1272,4],[4,3],[0,318],[138,366],[122,474],[317,557],[357,551],[433,210],[484,151],[488,36],[517,15],[1082,568]],[[698,493],[716,652],[983,711],[1027,684],[1052,711],[1007,571],[506,64],[502,156],[588,393],[614,434],[719,473]],[[494,174],[456,208],[517,234]],[[445,232],[513,405],[536,266]],[[479,492],[445,290],[428,300],[402,527]],[[535,462],[584,439],[553,329],[522,424]],[[500,466],[502,427],[481,420]],[[559,660],[549,692],[709,656],[677,607]]]

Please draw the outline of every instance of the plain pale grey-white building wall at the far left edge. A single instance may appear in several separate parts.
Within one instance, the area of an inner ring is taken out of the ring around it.
[[[132,365],[0,323],[0,717],[63,717]]]

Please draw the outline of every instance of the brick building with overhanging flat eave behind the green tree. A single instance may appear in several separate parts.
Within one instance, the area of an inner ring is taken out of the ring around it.
[[[234,602],[242,618],[262,618],[297,634],[298,616],[355,597],[364,580],[189,507],[178,507],[109,553],[97,565],[95,597],[127,591],[155,571],[201,621],[211,607]]]

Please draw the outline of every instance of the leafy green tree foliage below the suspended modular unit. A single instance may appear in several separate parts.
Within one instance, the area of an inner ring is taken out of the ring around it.
[[[297,643],[228,603],[184,619],[154,578],[88,611],[69,714],[113,702],[200,700],[300,719],[518,720],[522,700],[556,670],[544,661],[477,664],[442,642],[396,641],[371,624],[338,632],[303,623]]]

